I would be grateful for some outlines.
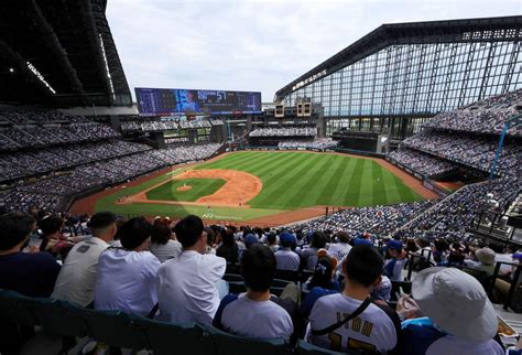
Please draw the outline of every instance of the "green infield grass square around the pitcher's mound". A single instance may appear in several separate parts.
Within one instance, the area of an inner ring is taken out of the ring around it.
[[[159,201],[194,202],[202,196],[211,195],[225,185],[222,179],[185,179],[171,180],[146,193],[146,198]],[[184,185],[192,186],[187,191],[176,191]]]

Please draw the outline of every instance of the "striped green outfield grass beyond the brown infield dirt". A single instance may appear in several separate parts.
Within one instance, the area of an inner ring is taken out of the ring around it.
[[[239,152],[195,169],[231,169],[257,175],[255,208],[373,206],[423,200],[372,160],[309,152]]]

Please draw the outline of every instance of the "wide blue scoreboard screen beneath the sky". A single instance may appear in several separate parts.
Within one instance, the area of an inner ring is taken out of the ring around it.
[[[261,114],[261,93],[135,88],[142,116]]]

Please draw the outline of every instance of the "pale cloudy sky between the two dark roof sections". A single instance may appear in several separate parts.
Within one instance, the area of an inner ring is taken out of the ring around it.
[[[515,15],[520,0],[109,0],[129,86],[257,90],[263,101],[383,23]]]

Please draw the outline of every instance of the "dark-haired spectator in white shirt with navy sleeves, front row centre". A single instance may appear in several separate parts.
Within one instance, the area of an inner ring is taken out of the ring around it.
[[[295,343],[304,322],[294,302],[270,294],[275,263],[268,247],[253,244],[247,248],[241,258],[247,292],[222,299],[213,323],[216,327],[240,336],[292,338]]]

